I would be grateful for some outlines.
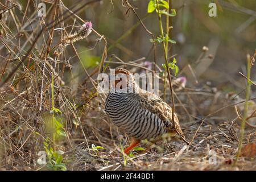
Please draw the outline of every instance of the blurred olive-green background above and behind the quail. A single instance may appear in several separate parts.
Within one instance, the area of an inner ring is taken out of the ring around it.
[[[155,36],[159,36],[156,13],[147,13],[148,1],[130,0],[129,2],[135,7],[148,30]],[[52,4],[51,0],[37,2],[46,2],[47,7]],[[82,1],[63,1],[67,7],[79,2]],[[210,9],[208,5],[211,2],[217,5],[217,17],[208,15]],[[20,5],[24,9],[27,1],[20,1]],[[33,6],[32,3],[30,6]],[[170,36],[177,43],[172,44],[169,55],[177,54],[177,65],[179,65],[180,71],[185,68],[179,76],[187,76],[188,85],[193,87],[210,81],[212,86],[224,90],[243,89],[245,80],[238,74],[238,71],[245,73],[246,53],[253,55],[256,48],[256,1],[173,0],[171,8],[176,9],[177,15],[171,18],[173,28]],[[124,1],[103,0],[86,7],[77,15],[85,21],[91,21],[93,28],[106,37],[108,56],[115,54],[123,61],[136,60],[141,57],[146,57],[146,61],[154,61],[151,36],[138,22],[134,13],[131,10],[127,11]],[[73,24],[73,19],[65,20],[66,26]],[[81,25],[79,21],[75,24]],[[68,27],[67,32],[71,28]],[[97,38],[98,35],[92,33],[86,38],[86,41],[75,43],[78,51],[81,52],[80,56],[85,67],[89,70],[100,62],[104,48],[103,41],[96,44]],[[59,40],[56,40],[55,43],[57,41]],[[204,46],[207,46],[209,51],[202,53]],[[164,62],[162,45],[157,44],[156,48],[157,63],[160,66]],[[72,51],[67,52],[67,55],[74,56]],[[77,57],[72,57],[69,63],[74,65],[74,68],[80,64]],[[196,78],[192,76],[188,67],[186,68],[188,64],[191,65]],[[114,66],[117,65],[110,64],[110,67]],[[252,69],[252,80],[256,80],[254,70]]]

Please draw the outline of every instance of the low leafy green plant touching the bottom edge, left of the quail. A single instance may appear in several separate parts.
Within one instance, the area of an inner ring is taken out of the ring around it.
[[[44,142],[44,150],[47,155],[47,168],[53,171],[67,171],[67,167],[63,163],[63,151],[55,151],[49,146],[49,139]]]

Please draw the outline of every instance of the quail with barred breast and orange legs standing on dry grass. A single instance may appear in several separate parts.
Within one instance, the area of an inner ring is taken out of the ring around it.
[[[139,88],[134,77],[123,68],[115,70],[115,76],[123,75],[122,79],[114,80],[105,102],[105,111],[120,129],[131,137],[131,144],[125,149],[129,154],[142,139],[154,139],[165,133],[183,135],[179,119],[172,108],[153,93]],[[121,86],[120,86],[121,85]],[[184,139],[184,137],[181,137]]]

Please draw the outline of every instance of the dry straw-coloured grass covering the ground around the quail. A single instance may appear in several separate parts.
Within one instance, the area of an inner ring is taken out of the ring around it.
[[[97,6],[98,2],[77,1],[73,7],[65,7],[62,1],[47,3],[44,19],[31,11],[33,3],[30,1],[22,10],[19,4],[8,3],[10,10],[1,14],[0,169],[45,169],[36,160],[38,152],[44,151],[44,140],[50,138],[46,120],[52,109],[52,74],[53,104],[62,112],[56,117],[64,123],[67,137],[51,144],[55,143],[55,150],[64,151],[63,163],[68,170],[256,169],[255,158],[240,158],[236,167],[229,164],[237,152],[240,120],[226,93],[208,85],[175,92],[176,113],[191,146],[176,140],[162,141],[151,151],[134,152],[125,165],[120,145],[125,146],[129,139],[104,113],[105,96],[97,94],[96,78],[104,68],[108,71],[109,61],[112,67],[121,64],[140,72],[144,59],[120,63],[118,57],[108,57],[105,37],[93,30],[87,41],[80,41],[92,42],[93,46],[83,51],[100,56],[99,64],[86,67],[79,44],[65,45],[63,40],[85,22],[73,13]],[[200,60],[208,57],[200,56]],[[246,127],[243,143],[255,142],[255,129]],[[104,149],[93,151],[92,144]],[[217,154],[216,165],[209,164],[210,150]]]

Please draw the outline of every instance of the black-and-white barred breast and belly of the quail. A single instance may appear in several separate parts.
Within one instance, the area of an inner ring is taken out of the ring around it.
[[[136,100],[134,94],[110,93],[105,111],[113,123],[137,139],[156,138],[167,132],[168,125]]]

